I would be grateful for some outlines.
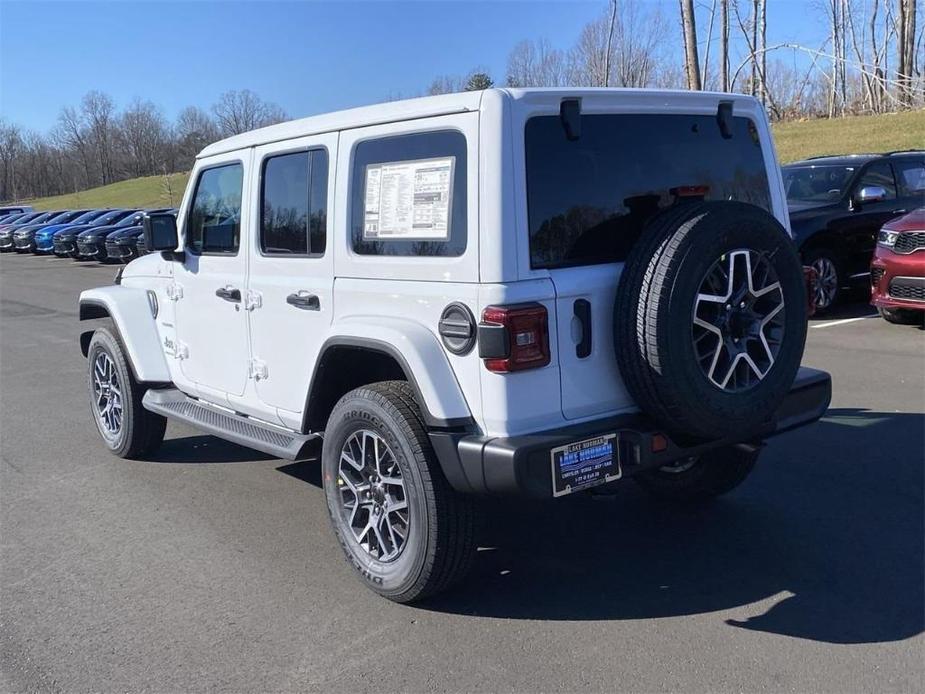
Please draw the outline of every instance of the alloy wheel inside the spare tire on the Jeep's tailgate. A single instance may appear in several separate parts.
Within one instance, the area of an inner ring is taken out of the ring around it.
[[[728,392],[754,386],[774,366],[785,317],[780,281],[762,253],[719,258],[694,301],[692,337],[704,375]]]

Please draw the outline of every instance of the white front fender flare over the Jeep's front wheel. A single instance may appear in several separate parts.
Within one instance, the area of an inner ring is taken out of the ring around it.
[[[79,309],[81,321],[112,319],[137,381],[170,382],[147,290],[120,285],[88,289],[80,293]],[[92,330],[82,330],[81,334],[87,332]],[[85,348],[83,340],[81,344]]]

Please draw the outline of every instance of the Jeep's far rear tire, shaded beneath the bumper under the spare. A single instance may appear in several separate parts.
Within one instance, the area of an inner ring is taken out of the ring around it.
[[[761,449],[729,446],[681,460],[633,479],[649,494],[681,502],[708,501],[731,492],[751,474]]]

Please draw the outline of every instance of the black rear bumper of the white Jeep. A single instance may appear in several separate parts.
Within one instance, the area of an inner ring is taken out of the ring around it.
[[[584,439],[617,433],[623,477],[661,467],[675,460],[737,443],[767,437],[810,424],[828,409],[832,379],[824,371],[803,367],[772,421],[748,439],[722,439],[681,446],[668,439],[667,448],[653,453],[658,428],[643,414],[627,414],[550,431],[511,437],[432,432],[434,450],[447,480],[460,492],[552,497],[551,451]],[[667,437],[666,437],[667,438]]]

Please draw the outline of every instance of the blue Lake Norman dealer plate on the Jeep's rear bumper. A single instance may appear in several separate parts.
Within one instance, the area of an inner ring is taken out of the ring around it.
[[[617,433],[601,434],[553,448],[552,495],[573,494],[623,477],[618,441]]]

